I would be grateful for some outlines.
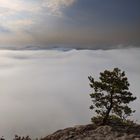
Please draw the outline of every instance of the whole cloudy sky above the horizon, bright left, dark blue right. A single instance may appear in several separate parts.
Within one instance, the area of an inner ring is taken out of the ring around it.
[[[139,0],[0,0],[0,47],[140,46]]]

